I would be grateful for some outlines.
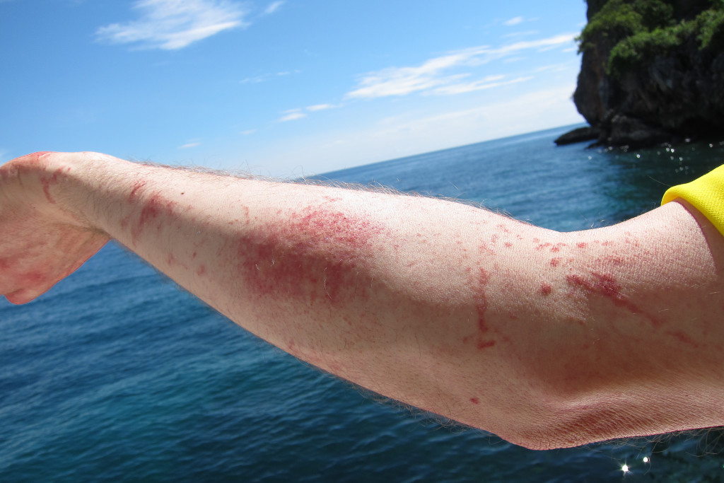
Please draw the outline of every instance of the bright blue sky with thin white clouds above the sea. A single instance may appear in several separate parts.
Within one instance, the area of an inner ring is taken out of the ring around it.
[[[0,162],[299,177],[584,122],[583,0],[0,0]]]

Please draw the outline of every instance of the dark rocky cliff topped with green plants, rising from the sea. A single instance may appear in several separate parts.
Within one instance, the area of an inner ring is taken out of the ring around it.
[[[724,0],[588,0],[576,108],[608,146],[724,135]]]

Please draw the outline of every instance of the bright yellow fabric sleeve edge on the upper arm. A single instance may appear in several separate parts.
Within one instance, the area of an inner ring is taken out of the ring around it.
[[[724,235],[724,165],[697,180],[669,188],[661,204],[676,198],[689,201]]]

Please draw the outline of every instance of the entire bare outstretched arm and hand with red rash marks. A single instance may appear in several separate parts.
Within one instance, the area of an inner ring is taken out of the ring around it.
[[[685,201],[560,233],[96,153],[0,167],[12,303],[110,239],[293,356],[517,445],[724,424],[724,238]]]

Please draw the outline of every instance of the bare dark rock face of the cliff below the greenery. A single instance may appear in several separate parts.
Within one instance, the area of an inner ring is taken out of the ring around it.
[[[708,2],[671,3],[680,19],[689,19]],[[589,21],[603,4],[589,0]],[[607,74],[612,43],[600,35],[584,50],[573,95],[578,112],[599,130],[599,143],[636,148],[724,134],[724,51],[701,49],[692,34],[613,76]]]

